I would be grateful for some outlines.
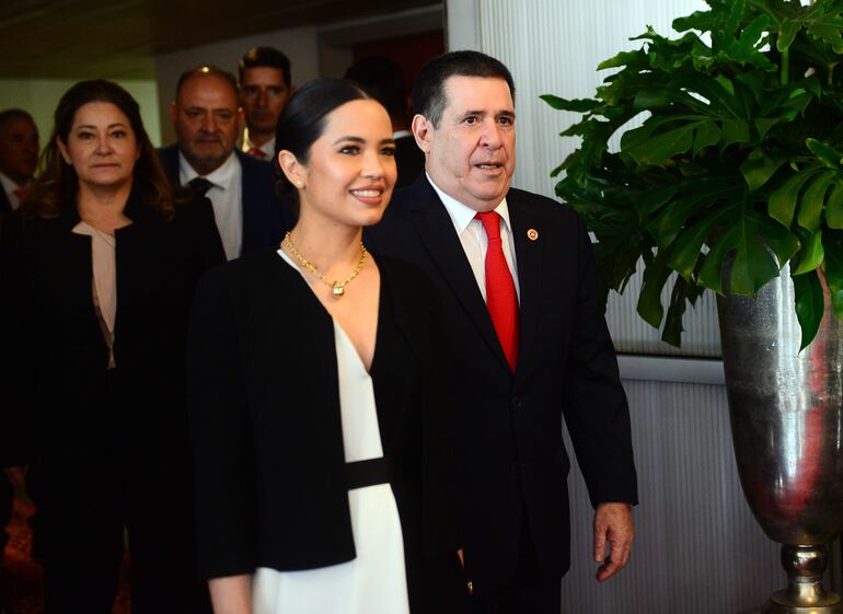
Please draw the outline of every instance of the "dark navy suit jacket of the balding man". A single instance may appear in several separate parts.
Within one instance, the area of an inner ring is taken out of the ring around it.
[[[268,162],[238,150],[234,154],[242,169],[243,242],[240,252],[247,254],[264,245],[279,245],[284,233],[296,223],[293,208],[276,196],[275,176]],[[178,186],[178,147],[163,147],[158,150],[158,155],[173,186]]]

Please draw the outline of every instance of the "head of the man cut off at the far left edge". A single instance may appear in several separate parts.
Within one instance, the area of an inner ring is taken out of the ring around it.
[[[38,129],[21,108],[0,112],[0,218],[15,210],[38,165]]]

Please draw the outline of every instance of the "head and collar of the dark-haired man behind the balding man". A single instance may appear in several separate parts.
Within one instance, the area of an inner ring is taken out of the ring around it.
[[[238,66],[240,105],[246,118],[242,151],[258,158],[275,155],[275,127],[292,95],[290,60],[278,49],[254,47]]]

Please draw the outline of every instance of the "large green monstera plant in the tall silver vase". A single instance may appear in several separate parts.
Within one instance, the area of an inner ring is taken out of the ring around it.
[[[593,100],[542,96],[581,114],[556,194],[597,238],[603,299],[644,259],[637,310],[663,340],[706,288],[752,296],[789,263],[805,347],[823,285],[843,316],[843,1],[706,3],[602,62]]]

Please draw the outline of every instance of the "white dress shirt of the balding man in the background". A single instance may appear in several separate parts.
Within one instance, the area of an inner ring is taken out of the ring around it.
[[[232,151],[228,160],[210,175],[205,175],[211,188],[206,196],[210,198],[213,206],[213,219],[217,221],[217,230],[222,239],[222,247],[226,250],[226,257],[232,260],[240,256],[240,250],[243,245],[243,187],[241,177],[243,171],[240,167],[240,160]],[[178,152],[178,182],[187,185],[199,174],[185,160],[182,152]]]

